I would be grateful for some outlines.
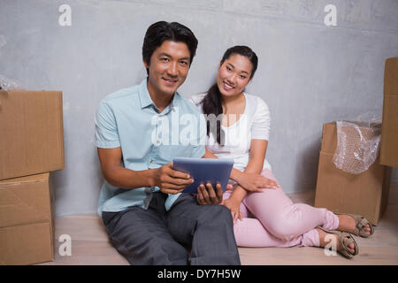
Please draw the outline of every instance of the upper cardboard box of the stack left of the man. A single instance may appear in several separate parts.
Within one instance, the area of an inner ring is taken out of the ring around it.
[[[0,91],[0,180],[65,169],[61,91]]]

